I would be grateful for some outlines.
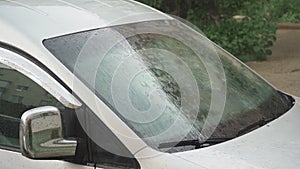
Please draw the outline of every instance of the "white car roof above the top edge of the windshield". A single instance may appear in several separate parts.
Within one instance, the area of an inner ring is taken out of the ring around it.
[[[64,34],[168,18],[133,0],[2,0],[0,40],[26,50],[27,41],[39,44]]]

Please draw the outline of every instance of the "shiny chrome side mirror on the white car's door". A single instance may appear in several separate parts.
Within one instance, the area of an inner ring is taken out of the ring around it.
[[[38,107],[22,115],[20,147],[24,156],[33,159],[74,156],[76,146],[75,140],[63,138],[61,114],[56,107]]]

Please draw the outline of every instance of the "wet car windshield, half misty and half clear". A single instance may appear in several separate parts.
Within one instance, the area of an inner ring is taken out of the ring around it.
[[[95,29],[43,43],[155,149],[182,140],[234,138],[291,107],[286,95],[177,20]]]

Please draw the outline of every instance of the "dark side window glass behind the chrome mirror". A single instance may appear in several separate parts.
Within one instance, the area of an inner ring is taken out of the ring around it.
[[[0,146],[19,148],[19,122],[22,114],[44,105],[64,110],[64,106],[41,86],[0,63]]]

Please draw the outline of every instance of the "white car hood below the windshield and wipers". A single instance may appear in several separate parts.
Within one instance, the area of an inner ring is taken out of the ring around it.
[[[300,98],[278,119],[236,139],[174,155],[199,168],[299,168]]]

